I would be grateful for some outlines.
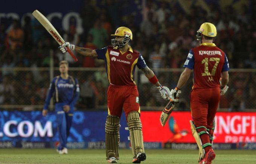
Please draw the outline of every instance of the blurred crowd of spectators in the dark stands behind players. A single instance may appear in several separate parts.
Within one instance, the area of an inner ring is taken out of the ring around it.
[[[100,49],[110,45],[110,34],[117,27],[126,26],[133,32],[131,46],[143,55],[149,68],[182,68],[189,50],[198,45],[195,35],[200,24],[211,22],[218,31],[215,44],[226,53],[230,68],[256,68],[256,51],[253,48],[256,45],[256,14],[250,6],[244,5],[237,12],[232,6],[221,9],[219,5],[211,3],[207,12],[200,6],[192,5],[187,13],[178,4],[147,0],[145,6],[140,6],[136,12],[122,15],[119,14],[122,13],[120,10],[129,4],[117,0],[104,2],[98,4],[85,0],[80,11],[84,33],[76,33],[76,23],[71,19],[69,31],[57,29],[64,40],[81,47]],[[139,23],[137,17],[141,17]],[[70,67],[104,67],[104,63],[92,58],[77,55],[79,62],[73,62],[68,54],[62,55],[54,39],[35,19],[26,17],[23,26],[18,20],[13,20],[11,26],[8,22],[10,20],[0,24],[2,105],[43,104],[49,86],[49,72],[41,72],[38,76],[36,71],[11,71],[5,68],[49,67],[50,50],[54,51],[55,67],[63,59],[69,61]],[[175,87],[171,86],[170,81],[177,81],[179,76],[178,73],[173,75],[175,77],[165,81],[169,88]],[[106,105],[108,82],[104,71],[88,74],[78,71],[74,76],[79,79],[81,86],[78,108]],[[164,74],[159,73],[158,76],[164,79]],[[255,84],[255,73],[230,73],[230,90],[222,97],[220,107],[230,111],[255,107]],[[152,89],[148,93],[147,87],[139,85],[138,88],[140,105],[163,106],[162,100],[148,97],[157,90]],[[188,96],[183,96],[184,104],[181,106],[189,109]]]

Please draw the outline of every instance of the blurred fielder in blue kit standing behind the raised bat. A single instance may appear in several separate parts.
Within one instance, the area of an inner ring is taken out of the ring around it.
[[[73,111],[76,101],[79,98],[79,84],[76,78],[68,74],[69,64],[67,61],[59,62],[60,76],[53,78],[42,111],[43,116],[47,115],[47,108],[53,96],[56,120],[58,123],[59,154],[67,154],[67,137],[72,125]]]

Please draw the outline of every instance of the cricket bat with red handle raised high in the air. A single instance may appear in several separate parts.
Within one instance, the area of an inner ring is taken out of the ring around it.
[[[52,23],[50,23],[49,20],[47,20],[47,18],[44,17],[43,14],[41,14],[41,12],[39,12],[38,10],[35,10],[32,13],[32,15],[34,15],[34,17],[37,18],[37,20],[44,26],[44,28],[50,33],[50,35],[52,35],[52,37],[56,40],[56,42],[58,42],[59,45],[62,45],[63,43],[65,43],[62,37],[59,35],[58,31],[52,26]],[[67,48],[67,52],[69,52],[72,58],[75,61],[78,61],[78,59],[69,49],[69,47],[66,47],[66,48]]]

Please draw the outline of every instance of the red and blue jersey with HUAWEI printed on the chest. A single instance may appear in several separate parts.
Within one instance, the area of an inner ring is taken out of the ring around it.
[[[146,67],[142,55],[130,46],[125,53],[112,46],[97,49],[96,52],[98,59],[105,60],[108,81],[112,85],[136,85],[133,79],[135,66],[139,69]]]

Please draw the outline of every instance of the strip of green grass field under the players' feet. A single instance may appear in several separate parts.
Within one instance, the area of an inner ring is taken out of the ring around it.
[[[215,150],[213,164],[253,164],[256,151]],[[131,150],[120,150],[118,163],[132,163]],[[146,150],[149,164],[197,164],[197,150]],[[0,163],[87,163],[106,164],[105,150],[70,149],[68,155],[59,155],[55,149],[0,149]]]

